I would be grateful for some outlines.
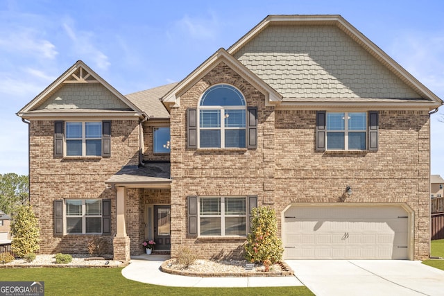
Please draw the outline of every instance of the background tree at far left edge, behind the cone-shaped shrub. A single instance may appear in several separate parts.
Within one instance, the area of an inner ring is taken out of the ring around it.
[[[29,180],[27,175],[0,174],[0,210],[13,214],[15,208],[28,202]]]

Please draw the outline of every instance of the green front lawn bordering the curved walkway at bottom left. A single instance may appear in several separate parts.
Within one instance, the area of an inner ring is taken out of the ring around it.
[[[45,295],[314,295],[302,287],[176,288],[130,281],[122,268],[0,268],[1,281],[44,281]],[[148,276],[148,275],[147,275]]]

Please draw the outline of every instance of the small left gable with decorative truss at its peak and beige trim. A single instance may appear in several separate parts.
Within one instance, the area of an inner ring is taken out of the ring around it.
[[[56,101],[63,101],[63,98],[53,98],[52,96],[62,92],[64,87],[66,87],[67,92],[71,91],[72,85],[76,85],[76,89],[81,87],[98,89],[104,93],[105,98],[99,102],[84,99],[83,102],[87,103],[62,102],[57,105]],[[105,102],[107,100],[110,102]],[[114,89],[81,60],[78,60],[65,73],[62,73],[43,92],[17,112],[17,115],[24,119],[57,116],[144,116],[139,107],[118,92],[117,89]]]

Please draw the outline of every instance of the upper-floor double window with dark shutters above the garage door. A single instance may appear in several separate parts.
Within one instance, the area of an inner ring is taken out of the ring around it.
[[[327,150],[366,150],[366,112],[327,112]]]

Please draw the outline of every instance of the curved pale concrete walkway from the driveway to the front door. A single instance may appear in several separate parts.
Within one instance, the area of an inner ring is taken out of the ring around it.
[[[133,256],[122,275],[133,281],[173,287],[275,287],[303,286],[296,277],[185,277],[159,270],[169,255]]]

